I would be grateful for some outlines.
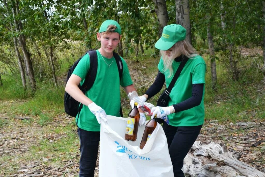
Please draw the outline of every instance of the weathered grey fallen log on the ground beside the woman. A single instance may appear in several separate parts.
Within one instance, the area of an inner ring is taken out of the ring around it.
[[[240,154],[227,152],[217,143],[202,145],[196,141],[191,149],[195,150],[194,154],[189,153],[185,157],[182,169],[186,176],[265,177],[265,173],[239,161]]]

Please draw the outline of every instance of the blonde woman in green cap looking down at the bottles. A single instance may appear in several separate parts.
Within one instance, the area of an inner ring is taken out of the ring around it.
[[[158,118],[168,117],[163,123],[167,137],[174,176],[184,177],[183,159],[197,139],[204,123],[204,85],[206,65],[204,59],[186,40],[186,29],[178,24],[167,25],[155,47],[160,49],[158,74],[151,87],[140,96],[147,100],[157,94],[166,81],[169,86],[183,60],[187,60],[169,95],[167,107],[156,106],[151,112]]]

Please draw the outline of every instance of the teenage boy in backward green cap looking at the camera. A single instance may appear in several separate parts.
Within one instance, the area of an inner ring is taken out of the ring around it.
[[[89,54],[83,56],[70,76],[65,91],[84,106],[81,109],[77,123],[80,139],[79,176],[94,177],[98,145],[100,140],[100,122],[107,122],[106,114],[120,117],[120,85],[125,92],[136,91],[131,80],[126,62],[120,80],[118,67],[113,57],[113,51],[121,40],[121,27],[114,20],[104,21],[96,34],[101,47],[96,50],[98,56],[98,71],[93,86],[83,94],[78,85],[85,81],[90,67]],[[78,115],[76,116],[78,117]],[[141,113],[141,122],[145,116]]]

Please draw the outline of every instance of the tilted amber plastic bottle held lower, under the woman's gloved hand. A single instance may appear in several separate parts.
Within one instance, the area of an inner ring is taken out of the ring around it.
[[[156,116],[154,116],[154,118],[149,120],[149,122],[147,122],[147,124],[145,125],[144,134],[142,137],[142,141],[140,143],[140,149],[144,148],[144,145],[146,144],[149,137],[151,136],[154,129],[156,128],[156,125],[157,125],[157,118]]]

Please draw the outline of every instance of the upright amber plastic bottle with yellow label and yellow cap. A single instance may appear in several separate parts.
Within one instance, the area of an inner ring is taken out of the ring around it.
[[[127,141],[135,141],[137,138],[140,113],[137,108],[138,103],[134,103],[134,108],[130,111],[127,119],[126,131],[124,139]]]

